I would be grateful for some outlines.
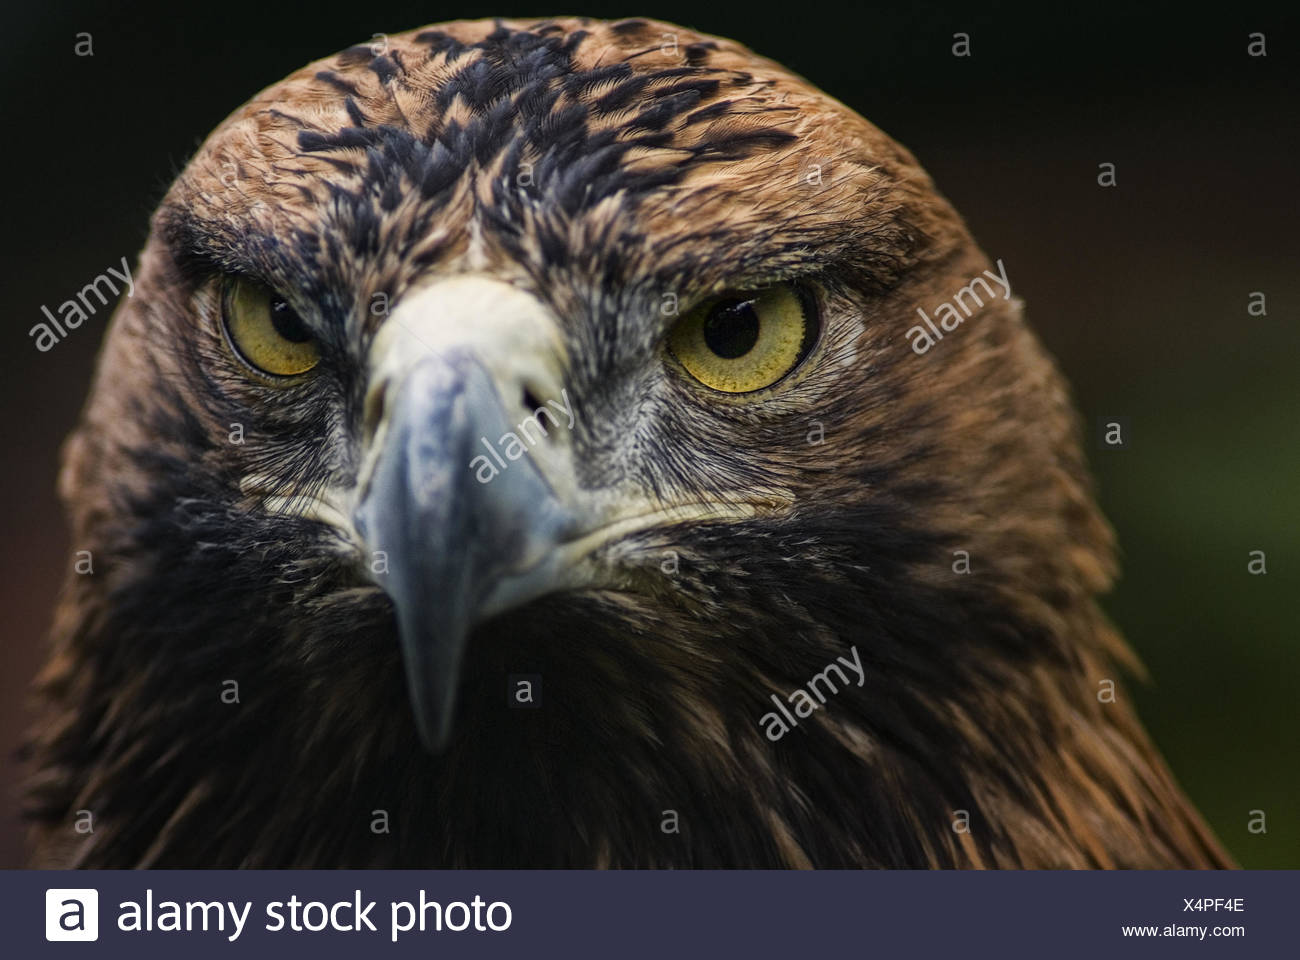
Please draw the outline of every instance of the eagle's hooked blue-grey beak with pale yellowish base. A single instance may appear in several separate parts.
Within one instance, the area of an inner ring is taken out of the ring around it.
[[[469,631],[554,589],[556,548],[586,526],[564,502],[576,484],[562,371],[550,312],[473,276],[408,297],[370,347],[354,523],[395,606],[433,751],[447,743]]]

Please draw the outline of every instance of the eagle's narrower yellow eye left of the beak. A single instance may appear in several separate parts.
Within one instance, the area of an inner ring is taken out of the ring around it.
[[[276,377],[306,373],[320,362],[316,338],[289,302],[246,277],[226,280],[221,320],[235,354]]]

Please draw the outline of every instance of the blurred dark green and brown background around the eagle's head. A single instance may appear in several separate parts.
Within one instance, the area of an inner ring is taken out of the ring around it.
[[[9,5],[4,81],[5,497],[0,866],[22,860],[13,745],[69,563],[57,446],[107,311],[49,354],[27,329],[134,258],[173,173],[226,113],[309,60],[439,20],[550,4]],[[1132,695],[1245,866],[1300,866],[1300,230],[1294,13],[1231,4],[1062,14],[1028,5],[627,0],[741,40],[920,159],[1075,386],[1123,550],[1108,600],[1150,673]],[[1191,8],[1187,8],[1188,10]],[[1084,18],[1086,16],[1086,18]],[[77,34],[94,56],[73,55]],[[974,56],[957,59],[954,33]],[[1249,34],[1268,57],[1247,56]],[[1118,186],[1097,186],[1113,163]],[[1264,291],[1266,316],[1247,311]],[[1123,451],[1096,420],[1127,418]],[[1265,550],[1268,574],[1247,572]],[[1251,834],[1252,810],[1268,833]]]

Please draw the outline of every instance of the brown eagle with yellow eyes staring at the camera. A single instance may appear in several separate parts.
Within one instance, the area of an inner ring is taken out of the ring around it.
[[[904,147],[670,23],[269,87],[65,445],[34,862],[1228,866],[994,277]]]

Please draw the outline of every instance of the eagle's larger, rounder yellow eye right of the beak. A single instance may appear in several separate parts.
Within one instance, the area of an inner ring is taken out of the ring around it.
[[[789,284],[715,297],[668,333],[686,372],[722,393],[753,393],[793,371],[816,341],[810,298]]]

